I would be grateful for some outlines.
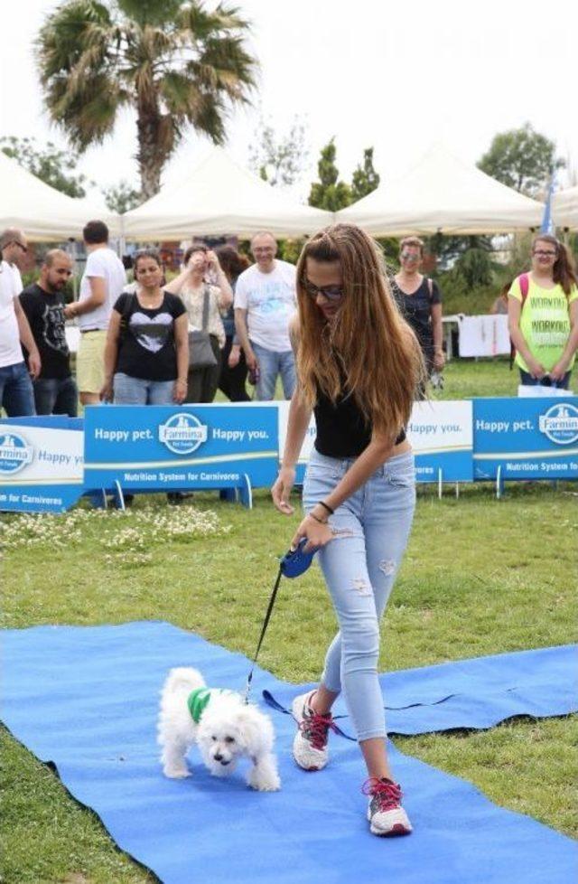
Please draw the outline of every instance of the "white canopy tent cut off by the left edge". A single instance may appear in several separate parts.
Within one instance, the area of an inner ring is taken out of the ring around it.
[[[36,242],[81,240],[87,221],[105,221],[111,236],[117,236],[117,215],[103,212],[98,202],[73,200],[49,187],[15,160],[0,151],[0,230],[22,228]]]

